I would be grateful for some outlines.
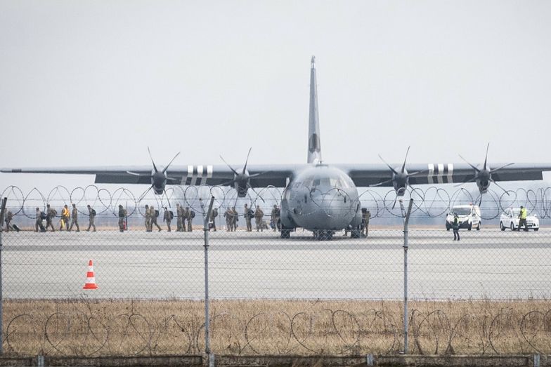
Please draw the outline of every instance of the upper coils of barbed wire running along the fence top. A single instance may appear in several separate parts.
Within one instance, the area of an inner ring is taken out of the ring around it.
[[[250,190],[249,190],[250,191]],[[319,191],[319,190],[318,190]],[[171,186],[166,190],[166,194],[161,196],[150,194],[148,196],[137,197],[126,187],[119,187],[110,192],[108,189],[99,188],[96,185],[86,187],[74,187],[68,189],[63,185],[58,185],[51,189],[48,194],[41,192],[34,187],[26,194],[17,186],[9,186],[2,192],[2,197],[8,198],[8,206],[14,215],[22,214],[27,218],[36,218],[36,208],[44,211],[47,203],[53,206],[63,206],[69,203],[75,203],[77,209],[83,215],[88,215],[86,206],[90,205],[96,210],[98,215],[118,216],[118,206],[122,204],[127,208],[128,216],[145,216],[145,203],[154,204],[158,208],[164,206],[172,207],[175,203],[188,206],[197,212],[205,210],[203,202],[208,202],[211,196],[214,196],[214,208],[225,210],[235,206],[242,208],[247,203],[249,208],[256,206],[279,204],[283,195],[283,189],[278,187],[264,187],[258,194],[247,192],[245,198],[239,198],[237,192],[230,187],[220,186]],[[318,206],[331,205],[335,197],[348,197],[347,211],[355,211],[359,203],[361,207],[368,208],[372,218],[398,218],[402,216],[401,208],[396,204],[396,193],[393,189],[381,194],[379,189],[360,189],[359,199],[353,200],[346,192],[339,189],[330,189],[328,192],[320,192],[316,198],[311,197],[312,201]],[[425,218],[441,218],[449,213],[455,205],[464,205],[469,203],[478,203],[481,199],[477,192],[473,194],[465,188],[453,190],[442,189],[441,187],[431,186],[426,189],[416,187],[401,196],[399,199],[408,201],[414,199],[412,215]],[[541,187],[538,189],[509,190],[507,192],[495,192],[488,190],[487,194],[482,196],[481,218],[491,220],[498,218],[506,208],[525,206],[529,212],[535,213],[540,218],[551,218],[551,187]],[[242,216],[242,213],[239,214]],[[309,213],[302,213],[309,215]]]

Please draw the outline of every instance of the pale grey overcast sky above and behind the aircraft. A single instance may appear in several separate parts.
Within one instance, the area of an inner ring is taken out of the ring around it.
[[[550,19],[551,1],[1,0],[0,166],[147,165],[148,145],[160,165],[305,163],[311,55],[327,163],[411,145],[476,164],[488,142],[490,162],[551,162]]]

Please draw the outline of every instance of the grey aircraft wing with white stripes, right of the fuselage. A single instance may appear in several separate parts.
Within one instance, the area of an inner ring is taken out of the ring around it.
[[[505,164],[493,164],[495,168]],[[384,164],[342,164],[335,165],[349,174],[358,187],[369,187],[389,180],[392,172]],[[391,165],[400,167],[401,164]],[[408,164],[408,173],[418,172],[410,177],[411,185],[462,183],[472,180],[475,171],[468,164]],[[551,164],[512,164],[492,173],[495,181],[543,180],[543,172],[551,171]],[[386,182],[382,187],[391,187],[392,182]]]

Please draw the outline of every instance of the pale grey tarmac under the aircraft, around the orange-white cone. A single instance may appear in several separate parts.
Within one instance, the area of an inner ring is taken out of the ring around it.
[[[415,299],[550,298],[551,231],[410,229],[408,295]],[[4,298],[193,298],[205,295],[204,234],[4,232]],[[209,232],[212,298],[403,298],[403,232],[367,239],[310,232]],[[93,259],[95,291],[83,291]]]

